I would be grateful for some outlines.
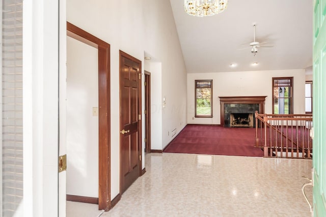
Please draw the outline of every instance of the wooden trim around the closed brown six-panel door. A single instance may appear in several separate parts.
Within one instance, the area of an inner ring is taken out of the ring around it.
[[[123,52],[122,50],[119,50],[119,84],[121,84],[121,64],[122,64],[122,57],[125,57],[127,59],[130,59],[132,61],[134,61],[135,63],[138,63],[139,64],[139,73],[142,74],[142,61],[129,55],[128,53],[126,52]],[[142,115],[142,79],[139,79],[139,102],[138,102],[138,105],[139,105],[139,113]],[[119,117],[120,117],[120,120],[119,120],[119,131],[120,129],[122,129],[122,126],[121,126],[121,87],[120,87],[120,90],[119,90],[119,108],[120,108],[120,112],[119,112]],[[119,144],[119,147],[120,147],[120,181],[119,181],[119,185],[120,185],[120,195],[122,194],[122,153],[121,153],[121,135],[119,135],[119,138],[120,138],[120,144]],[[140,159],[143,159],[143,156],[142,156],[142,119],[138,119],[138,138],[139,138],[139,141],[138,141],[138,145],[139,145],[139,151],[140,151]],[[138,159],[139,163],[140,163],[140,171],[139,171],[139,176],[141,176],[143,174],[143,170],[142,170],[142,160]],[[145,173],[145,172],[144,172]]]

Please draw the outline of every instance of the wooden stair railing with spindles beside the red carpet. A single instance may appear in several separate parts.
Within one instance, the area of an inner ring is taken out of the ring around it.
[[[312,158],[312,114],[259,114],[255,146],[264,157]]]

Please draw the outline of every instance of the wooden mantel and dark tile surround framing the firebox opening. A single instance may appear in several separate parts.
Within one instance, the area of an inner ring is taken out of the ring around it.
[[[266,96],[257,97],[219,97],[221,103],[221,126],[230,127],[231,113],[265,112]],[[255,119],[254,119],[255,120]],[[254,122],[255,127],[255,122]]]

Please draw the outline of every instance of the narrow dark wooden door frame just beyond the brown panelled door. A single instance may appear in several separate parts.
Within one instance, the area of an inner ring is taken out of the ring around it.
[[[144,71],[145,74],[145,149],[146,153],[151,152],[151,73]]]

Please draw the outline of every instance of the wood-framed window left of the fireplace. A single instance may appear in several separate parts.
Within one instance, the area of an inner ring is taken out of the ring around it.
[[[195,80],[195,117],[212,117],[213,80]]]

